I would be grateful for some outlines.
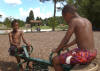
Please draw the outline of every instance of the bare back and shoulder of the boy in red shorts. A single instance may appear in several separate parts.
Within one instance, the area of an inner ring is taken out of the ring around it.
[[[71,21],[71,25],[75,27],[78,48],[92,50],[94,48],[92,24],[85,18],[77,17]]]

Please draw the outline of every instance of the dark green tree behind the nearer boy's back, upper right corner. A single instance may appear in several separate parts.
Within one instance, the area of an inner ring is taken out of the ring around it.
[[[88,18],[94,28],[100,28],[100,0],[82,0],[78,12],[81,16]]]

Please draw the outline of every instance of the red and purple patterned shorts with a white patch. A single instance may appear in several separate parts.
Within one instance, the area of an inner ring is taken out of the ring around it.
[[[61,54],[59,56],[61,64],[86,64],[90,63],[97,55],[97,51],[90,52],[88,50],[82,50],[75,48],[72,51]]]

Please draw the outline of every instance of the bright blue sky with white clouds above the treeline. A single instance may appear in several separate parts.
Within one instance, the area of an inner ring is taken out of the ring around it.
[[[57,7],[61,6],[57,3]],[[33,10],[34,16],[42,19],[53,16],[54,4],[52,1],[41,3],[39,0],[0,0],[0,14],[3,21],[5,17],[26,20],[30,10]],[[61,16],[61,11],[57,12]]]

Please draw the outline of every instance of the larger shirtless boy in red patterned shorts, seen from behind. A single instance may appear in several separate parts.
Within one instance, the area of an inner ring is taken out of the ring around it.
[[[62,16],[69,25],[69,28],[60,45],[58,48],[53,49],[53,52],[58,53],[60,50],[65,50],[74,44],[77,44],[78,48],[55,56],[53,58],[55,71],[63,71],[61,64],[75,65],[90,63],[97,54],[97,51],[94,48],[91,22],[86,18],[80,17],[76,12],[75,7],[71,5],[64,6]],[[75,34],[76,39],[68,43],[73,33]]]

